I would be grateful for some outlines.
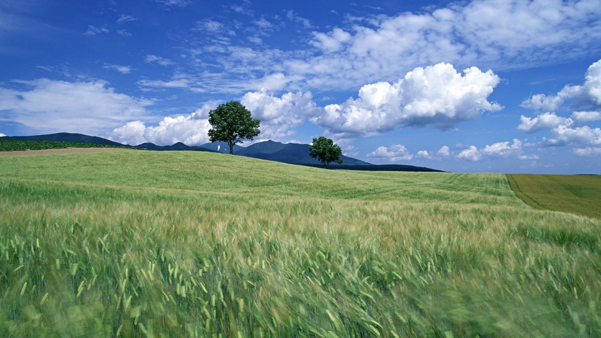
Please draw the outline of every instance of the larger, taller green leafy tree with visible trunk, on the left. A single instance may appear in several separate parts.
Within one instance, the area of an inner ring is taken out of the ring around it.
[[[252,140],[261,132],[260,121],[252,118],[251,112],[238,101],[222,103],[209,111],[209,123],[213,127],[209,130],[209,140],[227,143],[230,154],[234,153],[234,144]]]

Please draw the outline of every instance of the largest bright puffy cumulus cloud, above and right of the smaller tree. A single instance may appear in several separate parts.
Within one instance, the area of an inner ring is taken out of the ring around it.
[[[325,114],[311,121],[340,136],[368,136],[407,126],[449,129],[484,111],[502,109],[487,100],[499,83],[492,70],[470,67],[463,72],[446,63],[418,67],[392,84],[364,85],[357,99],[327,105]]]

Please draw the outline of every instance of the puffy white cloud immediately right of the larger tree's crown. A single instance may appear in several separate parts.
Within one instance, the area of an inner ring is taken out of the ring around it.
[[[292,128],[301,124],[305,117],[323,111],[313,102],[313,96],[308,91],[285,93],[277,97],[262,88],[244,94],[240,103],[251,111],[252,117],[261,120],[260,136],[275,140],[293,134]]]

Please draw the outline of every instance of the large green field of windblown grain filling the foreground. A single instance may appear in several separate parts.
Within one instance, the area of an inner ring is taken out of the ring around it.
[[[0,158],[8,336],[600,336],[601,221],[504,174]]]

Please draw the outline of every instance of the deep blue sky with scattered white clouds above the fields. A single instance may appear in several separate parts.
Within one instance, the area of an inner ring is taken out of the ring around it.
[[[601,0],[0,2],[0,136],[332,138],[373,164],[601,174]]]

